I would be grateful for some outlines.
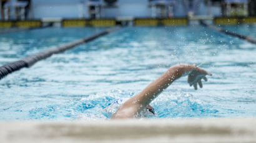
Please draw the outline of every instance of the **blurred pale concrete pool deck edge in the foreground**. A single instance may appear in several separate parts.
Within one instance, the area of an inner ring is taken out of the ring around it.
[[[256,142],[256,118],[0,122],[0,142]]]

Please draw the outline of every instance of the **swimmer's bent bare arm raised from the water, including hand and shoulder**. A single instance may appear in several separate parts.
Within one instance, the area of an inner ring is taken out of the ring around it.
[[[205,75],[212,75],[196,65],[177,64],[169,68],[157,80],[153,81],[139,94],[128,99],[111,117],[112,119],[135,118],[139,115],[142,109],[155,99],[165,88],[167,88],[174,80],[177,80],[182,75],[189,75],[188,83],[194,85],[197,90],[197,83],[202,88],[202,79],[207,81]]]

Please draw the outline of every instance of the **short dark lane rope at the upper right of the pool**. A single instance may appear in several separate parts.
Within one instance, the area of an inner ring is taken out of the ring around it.
[[[243,40],[246,40],[252,44],[256,44],[256,39],[254,37],[250,37],[250,36],[246,36],[246,35],[242,35],[242,34],[237,34],[235,32],[232,32],[232,31],[229,31],[229,30],[225,30],[225,29],[222,29],[220,27],[217,27],[215,25],[208,25],[206,24],[205,22],[203,21],[200,21],[200,24],[203,25],[204,27],[207,27],[209,29],[214,29],[214,30],[217,30],[219,32],[222,32],[224,34],[227,34],[227,35],[232,35],[234,37],[238,37],[239,39],[243,39]]]

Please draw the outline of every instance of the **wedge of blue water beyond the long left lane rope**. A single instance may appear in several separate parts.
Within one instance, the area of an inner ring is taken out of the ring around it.
[[[56,45],[101,32],[103,28],[45,28],[0,35],[0,65]]]

